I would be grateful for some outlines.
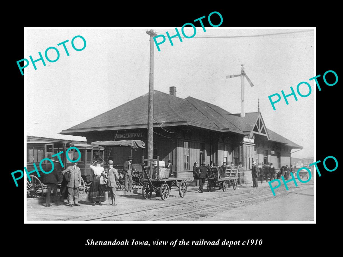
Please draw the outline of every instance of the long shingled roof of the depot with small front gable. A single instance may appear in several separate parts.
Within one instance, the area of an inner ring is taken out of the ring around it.
[[[148,94],[140,96],[90,120],[63,130],[60,134],[80,135],[80,133],[88,131],[146,128],[148,98]],[[163,126],[191,125],[242,135],[255,133],[256,131],[254,132],[253,129],[259,120],[265,127],[260,112],[246,113],[245,117],[241,118],[240,114],[232,114],[211,103],[193,97],[183,99],[157,90],[154,90],[154,119],[154,127],[159,126],[159,124],[163,124]],[[271,130],[265,132],[265,136],[269,140],[302,148]]]

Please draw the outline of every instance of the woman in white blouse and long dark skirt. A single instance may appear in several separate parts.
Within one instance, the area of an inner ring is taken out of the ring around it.
[[[106,183],[103,185],[100,185],[100,178],[102,174],[105,174],[105,170],[103,167],[100,166],[100,164],[101,164],[101,161],[95,161],[93,165],[90,166],[90,168],[93,170],[93,182],[91,184],[88,197],[92,201],[93,206],[95,205],[95,203],[102,205],[101,202],[104,202],[106,200],[105,199]]]

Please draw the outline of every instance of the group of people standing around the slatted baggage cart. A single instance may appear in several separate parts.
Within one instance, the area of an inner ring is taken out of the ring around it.
[[[201,162],[201,166],[200,167],[198,167],[198,164],[199,164],[198,162],[194,162],[194,165],[193,165],[193,177],[194,177],[194,180],[199,180],[199,189],[198,189],[199,193],[203,193],[204,192],[203,186],[205,184],[206,173],[207,173],[207,169],[208,168],[217,167],[219,169],[220,176],[222,178],[224,178],[226,170],[227,169],[231,169],[232,170],[235,167],[233,162],[231,162],[230,166],[227,166],[227,163],[225,161],[223,162],[222,166],[216,165],[213,161],[211,161],[210,164],[208,164],[207,166],[206,166],[206,162],[204,162],[204,161]],[[237,167],[237,169],[238,169],[237,184],[239,186],[241,186],[240,174],[243,173],[243,171],[244,171],[244,168],[242,167],[242,163],[241,162],[239,162],[239,166]],[[228,187],[230,187],[230,185],[228,185]]]

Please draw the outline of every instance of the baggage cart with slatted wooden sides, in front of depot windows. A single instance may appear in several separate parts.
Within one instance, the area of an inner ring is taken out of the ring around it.
[[[213,187],[223,189],[226,192],[228,185],[232,186],[234,190],[237,189],[238,169],[231,167],[226,170],[225,174],[221,174],[218,167],[208,167],[206,172],[207,191],[210,192]]]

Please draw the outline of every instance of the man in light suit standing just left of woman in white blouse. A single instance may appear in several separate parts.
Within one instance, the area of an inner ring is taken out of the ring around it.
[[[74,157],[73,161],[76,161],[78,158]],[[68,178],[68,205],[70,207],[73,207],[71,203],[73,202],[74,199],[74,205],[75,206],[80,206],[79,205],[79,186],[81,186],[81,170],[79,167],[77,167],[78,163],[73,162],[72,166],[67,167],[62,174],[67,173],[67,178]]]

